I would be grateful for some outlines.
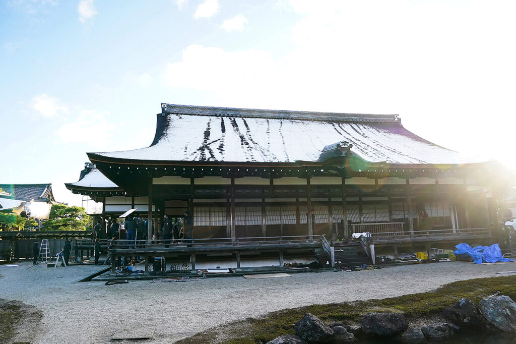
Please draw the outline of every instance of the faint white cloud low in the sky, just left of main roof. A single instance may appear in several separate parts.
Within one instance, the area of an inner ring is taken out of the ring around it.
[[[79,110],[75,121],[65,123],[56,132],[65,144],[87,143],[91,147],[104,148],[112,142],[115,126],[109,123],[107,111]]]

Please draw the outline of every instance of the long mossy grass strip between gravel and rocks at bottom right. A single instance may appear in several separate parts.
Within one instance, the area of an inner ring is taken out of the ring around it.
[[[444,285],[431,292],[389,299],[283,309],[271,312],[261,319],[248,318],[225,324],[183,339],[178,343],[266,343],[284,334],[294,334],[294,324],[307,312],[325,322],[343,321],[349,324],[360,323],[366,313],[373,311],[401,312],[408,318],[419,318],[439,314],[445,306],[456,303],[460,298],[469,298],[478,304],[481,298],[494,293],[508,295],[511,299],[516,300],[516,276],[464,280]]]

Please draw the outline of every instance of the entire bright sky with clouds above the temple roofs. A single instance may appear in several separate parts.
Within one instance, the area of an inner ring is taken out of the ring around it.
[[[6,0],[3,183],[80,204],[87,151],[148,146],[160,102],[396,113],[464,154],[511,157],[511,1]]]

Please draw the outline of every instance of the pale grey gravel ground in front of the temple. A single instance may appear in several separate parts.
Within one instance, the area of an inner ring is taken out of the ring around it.
[[[41,264],[26,270],[30,265],[0,265],[4,276],[0,296],[44,312],[35,342],[45,344],[107,343],[122,329],[155,329],[153,339],[142,342],[170,343],[224,322],[283,308],[424,292],[456,280],[500,276],[495,272],[516,270],[516,263],[448,262],[359,272],[298,273],[270,279],[221,277],[104,286],[99,282],[73,283],[99,267],[50,269]]]

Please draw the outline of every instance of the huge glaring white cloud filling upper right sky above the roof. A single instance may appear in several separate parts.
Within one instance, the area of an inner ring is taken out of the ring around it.
[[[445,147],[505,161],[513,155],[499,123],[516,127],[516,46],[507,44],[516,3],[291,6],[301,19],[286,54],[191,45],[167,64],[167,83],[209,91],[203,105],[396,113]]]

